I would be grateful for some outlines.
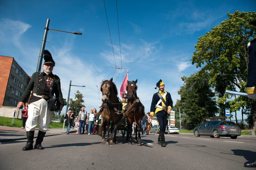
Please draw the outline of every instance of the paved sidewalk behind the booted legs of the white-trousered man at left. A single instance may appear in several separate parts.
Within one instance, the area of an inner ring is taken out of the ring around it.
[[[75,129],[70,129],[69,133],[75,133]],[[37,138],[38,129],[35,129],[34,138]],[[48,129],[45,136],[53,136],[66,134],[66,128],[63,129]],[[6,141],[24,140],[27,139],[26,129],[0,126],[0,143]]]

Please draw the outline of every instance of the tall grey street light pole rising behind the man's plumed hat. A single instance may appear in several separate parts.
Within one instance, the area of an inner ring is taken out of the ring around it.
[[[61,30],[49,29],[49,24],[50,24],[50,19],[47,19],[47,21],[46,21],[46,26],[45,26],[45,28],[44,28],[44,37],[43,37],[43,40],[42,40],[41,50],[40,50],[40,54],[39,54],[39,57],[38,57],[38,63],[37,63],[37,67],[36,67],[36,72],[40,72],[40,71],[41,71],[41,66],[42,66],[42,61],[43,61],[44,47],[45,47],[45,42],[46,42],[48,30],[51,30],[51,31],[58,31],[58,32],[67,32],[67,33],[72,33],[72,34],[75,34],[75,35],[82,35],[82,33],[81,33],[81,32],[78,32],[78,31],[77,31],[77,32],[68,32],[68,31],[61,31]]]

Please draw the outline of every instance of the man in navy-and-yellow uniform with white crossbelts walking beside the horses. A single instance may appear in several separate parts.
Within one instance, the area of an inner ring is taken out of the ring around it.
[[[164,132],[167,125],[168,114],[172,110],[172,98],[169,92],[164,90],[164,82],[160,79],[156,86],[159,91],[153,95],[150,107],[150,115],[156,115],[159,124],[158,144],[165,147]],[[157,88],[155,88],[157,89]]]

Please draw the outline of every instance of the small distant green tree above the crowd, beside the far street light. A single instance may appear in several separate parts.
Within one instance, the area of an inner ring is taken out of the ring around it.
[[[73,100],[72,98],[69,99],[69,105],[68,106],[72,109],[72,112],[74,114],[76,114],[75,113],[76,109],[77,109],[77,115],[78,115],[78,113],[82,109],[82,107],[85,107],[84,104],[82,104],[82,103],[84,103],[83,97],[84,97],[83,94],[79,90],[77,90],[76,93],[75,93],[75,99],[76,100]]]

